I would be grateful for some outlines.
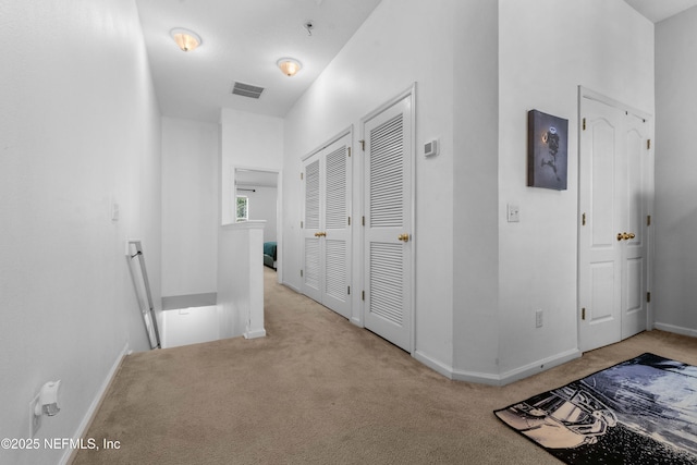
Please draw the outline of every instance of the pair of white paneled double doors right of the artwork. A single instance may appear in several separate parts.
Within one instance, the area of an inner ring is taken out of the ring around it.
[[[580,99],[579,345],[589,351],[647,328],[652,164],[646,115]]]

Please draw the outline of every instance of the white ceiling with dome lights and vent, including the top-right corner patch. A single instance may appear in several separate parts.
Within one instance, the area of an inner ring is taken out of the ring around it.
[[[428,1],[428,0],[423,0]],[[625,0],[652,22],[697,0]],[[221,108],[284,117],[380,0],[136,0],[162,114],[218,122]],[[310,33],[304,27],[311,22]],[[203,40],[181,51],[170,30]],[[299,60],[293,77],[280,58]],[[234,82],[264,87],[258,100],[232,95]]]

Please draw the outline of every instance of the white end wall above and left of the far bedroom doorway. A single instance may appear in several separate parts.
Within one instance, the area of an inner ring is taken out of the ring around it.
[[[221,121],[221,222],[235,220],[234,169],[281,171],[283,119],[222,109]]]

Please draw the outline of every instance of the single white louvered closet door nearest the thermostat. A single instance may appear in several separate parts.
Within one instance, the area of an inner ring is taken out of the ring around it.
[[[365,122],[365,327],[412,351],[412,97]]]

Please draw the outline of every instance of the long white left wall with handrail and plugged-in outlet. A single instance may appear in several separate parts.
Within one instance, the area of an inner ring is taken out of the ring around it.
[[[125,241],[159,302],[159,110],[134,1],[0,0],[0,437],[27,438],[29,401],[61,379],[37,438],[71,438],[124,351],[148,347]]]

